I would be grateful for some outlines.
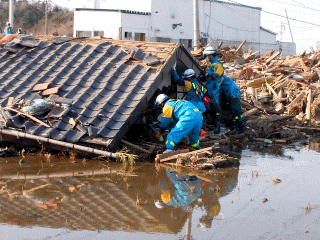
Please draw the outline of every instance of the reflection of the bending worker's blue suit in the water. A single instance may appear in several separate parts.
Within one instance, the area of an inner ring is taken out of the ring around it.
[[[166,170],[166,174],[173,183],[174,191],[169,190],[165,183],[160,184],[162,191],[170,191],[170,198],[165,202],[168,206],[187,208],[201,195],[202,180],[196,176],[177,176],[176,171]],[[192,189],[192,190],[191,190]]]

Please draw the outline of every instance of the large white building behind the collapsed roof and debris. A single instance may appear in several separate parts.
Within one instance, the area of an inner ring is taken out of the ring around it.
[[[81,1],[81,0],[80,0]],[[75,9],[74,36],[182,43],[192,48],[194,0],[151,0],[151,12],[108,9],[105,0],[84,1]],[[295,55],[295,43],[280,43],[276,33],[260,26],[261,8],[215,0],[198,0],[199,35],[207,44],[223,41],[244,50],[282,50]],[[123,6],[125,9],[125,6]]]

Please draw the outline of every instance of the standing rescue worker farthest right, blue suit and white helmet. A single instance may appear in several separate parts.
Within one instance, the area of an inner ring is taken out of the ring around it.
[[[231,78],[224,75],[223,64],[219,61],[217,51],[213,47],[207,47],[203,51],[203,55],[210,62],[206,76],[206,88],[212,100],[212,104],[210,103],[209,106],[216,111],[221,111],[221,99],[225,99],[234,119],[234,127],[237,133],[241,133],[243,131],[243,117],[240,88]],[[216,112],[216,116],[219,116],[216,121],[220,126],[220,112]]]

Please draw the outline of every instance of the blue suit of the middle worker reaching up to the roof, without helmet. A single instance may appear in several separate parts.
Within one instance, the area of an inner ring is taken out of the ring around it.
[[[203,103],[203,96],[206,93],[206,89],[199,83],[197,78],[193,78],[191,81],[182,79],[176,70],[172,71],[173,80],[180,86],[184,86],[187,93],[186,100],[195,105],[200,112],[204,112],[206,107]]]

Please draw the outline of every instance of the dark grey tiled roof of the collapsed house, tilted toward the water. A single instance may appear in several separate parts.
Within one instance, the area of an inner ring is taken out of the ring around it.
[[[170,81],[178,56],[197,66],[183,46],[172,43],[23,37],[0,49],[0,105],[10,97],[16,103],[62,103],[42,118],[51,127],[14,114],[13,127],[71,143],[100,139],[98,144],[114,150],[157,88]],[[47,89],[35,91],[44,83]]]

